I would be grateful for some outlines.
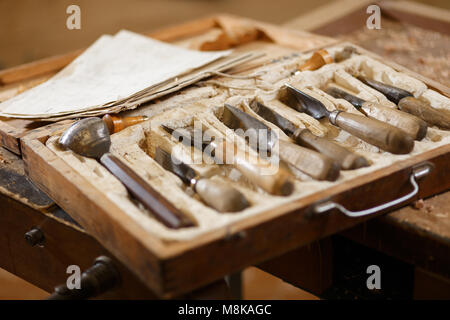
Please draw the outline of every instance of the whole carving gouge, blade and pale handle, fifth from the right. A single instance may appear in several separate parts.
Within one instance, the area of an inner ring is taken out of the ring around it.
[[[280,158],[315,179],[334,181],[339,176],[339,164],[333,159],[314,150],[278,139],[263,122],[238,108],[225,105],[222,121],[229,128],[236,130],[236,133],[244,134],[243,131],[245,131],[249,140],[258,141],[257,146],[250,143],[250,146],[256,150],[266,149],[273,152],[273,147],[278,142]],[[253,139],[251,135],[254,135]],[[261,145],[266,137],[269,137],[266,145]]]

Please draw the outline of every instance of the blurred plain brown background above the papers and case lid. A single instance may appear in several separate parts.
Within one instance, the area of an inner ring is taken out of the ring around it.
[[[358,0],[355,0],[358,1]],[[120,29],[157,30],[213,13],[231,13],[275,24],[328,0],[0,0],[0,69],[89,46]],[[417,2],[450,9],[449,0]],[[81,30],[68,30],[66,8],[81,8]]]

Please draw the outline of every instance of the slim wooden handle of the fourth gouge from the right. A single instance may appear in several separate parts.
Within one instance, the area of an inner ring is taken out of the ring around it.
[[[304,147],[312,148],[334,159],[343,170],[358,169],[369,165],[363,156],[353,153],[326,138],[318,137],[308,129],[298,128],[291,138]]]

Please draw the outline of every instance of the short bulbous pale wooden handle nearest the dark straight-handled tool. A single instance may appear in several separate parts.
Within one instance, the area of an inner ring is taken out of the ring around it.
[[[242,193],[223,182],[200,179],[195,184],[195,191],[206,204],[219,212],[237,212],[249,206]]]

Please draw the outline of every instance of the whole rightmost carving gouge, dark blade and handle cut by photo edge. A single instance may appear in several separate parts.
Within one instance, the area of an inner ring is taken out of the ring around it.
[[[400,110],[425,120],[429,125],[450,130],[450,114],[436,110],[428,103],[415,98],[411,92],[363,76],[358,76],[358,79],[380,91],[397,104]]]

